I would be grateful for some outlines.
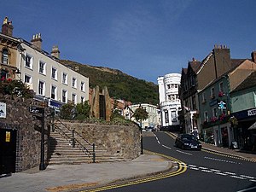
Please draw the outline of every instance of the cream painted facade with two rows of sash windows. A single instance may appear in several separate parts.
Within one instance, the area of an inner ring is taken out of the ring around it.
[[[62,65],[58,59],[20,39],[18,79],[34,90],[36,97],[53,103],[75,104],[89,100],[89,79]]]

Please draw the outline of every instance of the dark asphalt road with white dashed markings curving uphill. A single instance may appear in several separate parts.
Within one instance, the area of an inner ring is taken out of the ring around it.
[[[161,179],[148,179],[128,186],[120,185],[114,192],[253,192],[256,191],[256,164],[246,160],[212,154],[206,150],[190,151],[174,147],[174,138],[166,132],[143,137],[144,149],[176,158],[179,174]],[[175,164],[176,165],[176,164]],[[179,166],[183,166],[182,168]]]

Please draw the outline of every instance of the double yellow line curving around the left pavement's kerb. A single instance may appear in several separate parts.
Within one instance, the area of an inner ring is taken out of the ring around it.
[[[134,181],[129,181],[127,183],[111,184],[111,185],[99,187],[99,188],[96,188],[96,189],[82,190],[80,192],[97,192],[97,191],[103,191],[103,190],[108,190],[108,189],[122,188],[122,187],[131,186],[131,185],[135,185],[135,184],[139,184],[139,183],[152,182],[152,181],[160,180],[160,179],[163,179],[163,178],[166,178],[166,177],[177,176],[177,175],[182,174],[183,172],[187,171],[186,164],[183,163],[180,160],[177,160],[177,159],[175,159],[175,158],[173,158],[171,156],[167,156],[165,154],[158,154],[158,153],[154,153],[154,152],[150,152],[150,151],[146,151],[146,152],[147,152],[147,154],[159,155],[159,156],[164,157],[164,158],[166,158],[168,160],[172,160],[173,163],[177,163],[177,165],[178,165],[177,171],[175,171],[175,172],[159,173],[159,174],[157,174],[155,176],[140,178],[140,179],[137,179],[137,180],[134,180]]]

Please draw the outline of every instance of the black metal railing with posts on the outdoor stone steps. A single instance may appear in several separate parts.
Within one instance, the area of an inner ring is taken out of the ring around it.
[[[75,148],[76,146],[76,143],[79,144],[79,148],[81,148],[83,150],[83,152],[85,152],[85,154],[87,154],[89,157],[92,156],[92,162],[95,163],[96,162],[96,153],[95,153],[95,143],[90,143],[88,142],[86,139],[84,139],[84,137],[82,137],[78,131],[75,131],[75,130],[71,130],[67,125],[63,124],[61,122],[60,119],[55,119],[57,120],[58,122],[61,123],[61,125],[63,125],[68,131],[72,132],[72,137],[70,137],[65,131],[63,131],[59,126],[55,125],[54,122],[54,126],[52,126],[53,130],[52,131],[55,131],[55,129],[57,129],[58,131],[61,131],[61,133],[67,137],[67,139],[70,139],[72,141],[72,146],[73,148]],[[92,147],[92,153],[84,147],[84,144],[79,142],[79,140],[75,137],[75,134],[79,135],[79,137],[88,145],[90,145]]]

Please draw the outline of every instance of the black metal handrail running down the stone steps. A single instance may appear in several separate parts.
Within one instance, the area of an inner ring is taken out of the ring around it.
[[[59,131],[61,131],[68,139],[71,139],[71,141],[73,143],[73,148],[75,147],[75,143],[79,143],[79,146],[82,147],[82,150],[85,151],[85,154],[88,154],[89,157],[90,157],[90,155],[92,155],[92,162],[95,163],[96,162],[95,143],[90,144],[77,131],[70,130],[69,127],[67,125],[63,124],[60,119],[57,119],[57,120],[61,123],[61,125],[64,125],[68,131],[72,131],[73,137],[72,138],[69,137],[67,135],[67,133],[65,131],[61,130],[61,128],[58,127],[57,125],[55,125],[55,128],[58,129]],[[76,139],[74,137],[74,132],[76,132],[79,135],[79,137],[81,137],[85,141],[85,143],[88,143],[90,146],[92,146],[92,153],[90,153],[90,151],[87,148],[85,148],[84,145],[82,143],[80,143],[78,139]]]

